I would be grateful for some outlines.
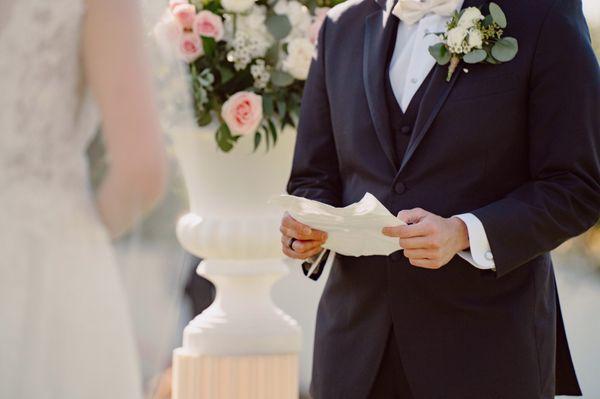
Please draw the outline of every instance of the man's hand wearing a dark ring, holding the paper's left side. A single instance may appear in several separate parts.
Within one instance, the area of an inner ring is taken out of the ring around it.
[[[287,212],[283,215],[279,231],[283,253],[294,259],[304,260],[318,254],[327,241],[327,233],[298,222]]]

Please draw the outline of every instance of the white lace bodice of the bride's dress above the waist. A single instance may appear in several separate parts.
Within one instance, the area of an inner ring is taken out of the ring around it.
[[[96,111],[84,84],[85,0],[0,0],[0,186],[87,184]],[[40,193],[43,195],[43,193]]]

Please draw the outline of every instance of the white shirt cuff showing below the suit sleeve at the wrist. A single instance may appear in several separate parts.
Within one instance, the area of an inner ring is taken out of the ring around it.
[[[478,269],[495,270],[494,255],[481,220],[472,213],[464,213],[455,217],[467,225],[470,246],[469,251],[459,252],[458,255]]]

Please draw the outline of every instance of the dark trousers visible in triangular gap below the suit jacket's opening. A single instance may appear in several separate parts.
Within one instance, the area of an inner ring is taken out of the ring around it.
[[[369,399],[413,399],[392,329]]]

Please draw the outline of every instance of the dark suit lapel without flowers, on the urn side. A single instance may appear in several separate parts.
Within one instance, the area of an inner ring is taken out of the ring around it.
[[[385,99],[385,73],[389,46],[395,34],[398,19],[391,15],[392,2],[380,5],[383,9],[370,14],[365,21],[363,49],[363,80],[373,126],[379,143],[394,170],[399,160],[390,134],[389,110]]]

